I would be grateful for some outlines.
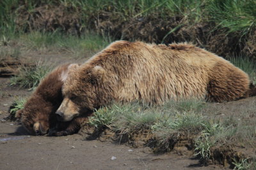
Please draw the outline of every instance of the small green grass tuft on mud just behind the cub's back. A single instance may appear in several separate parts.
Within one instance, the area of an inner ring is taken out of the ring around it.
[[[36,62],[35,66],[22,66],[19,74],[10,79],[10,85],[34,90],[51,69],[51,65],[42,61]]]

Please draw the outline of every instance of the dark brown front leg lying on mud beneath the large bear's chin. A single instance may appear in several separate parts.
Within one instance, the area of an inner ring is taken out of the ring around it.
[[[87,121],[88,117],[76,117],[70,122],[58,122],[56,127],[50,130],[49,136],[67,136],[75,134]]]

